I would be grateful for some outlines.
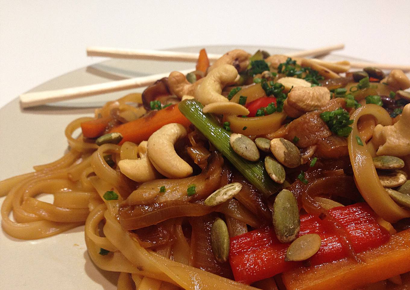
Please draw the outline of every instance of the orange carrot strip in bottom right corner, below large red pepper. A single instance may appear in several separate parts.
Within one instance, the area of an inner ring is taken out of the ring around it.
[[[390,241],[358,254],[361,262],[343,259],[310,268],[298,268],[282,274],[286,289],[353,289],[410,271],[410,229],[399,232]]]

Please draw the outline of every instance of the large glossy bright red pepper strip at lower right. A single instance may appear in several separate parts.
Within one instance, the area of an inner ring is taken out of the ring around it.
[[[376,222],[376,215],[366,203],[336,207],[328,214],[339,223],[355,252],[378,247],[389,240],[389,233]],[[349,254],[335,227],[317,216],[301,217],[298,236],[304,234],[319,234],[322,239],[319,251],[310,258],[311,265],[337,261]],[[229,262],[235,280],[250,284],[301,267],[302,262],[285,262],[288,247],[268,227],[232,237]]]

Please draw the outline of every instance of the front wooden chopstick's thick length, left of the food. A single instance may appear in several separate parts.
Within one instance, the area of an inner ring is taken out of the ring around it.
[[[195,69],[181,70],[180,72],[187,74],[194,70]],[[93,96],[96,94],[104,94],[108,92],[117,92],[132,88],[145,87],[147,85],[153,84],[155,81],[162,79],[163,77],[169,76],[169,74],[170,72],[166,72],[162,74],[153,74],[150,76],[140,76],[131,79],[124,79],[121,81],[109,81],[106,83],[97,83],[94,85],[83,85],[74,88],[50,90],[44,92],[29,92],[21,94],[19,96],[20,105],[22,108],[29,108],[44,105],[46,103],[53,103],[80,97]]]

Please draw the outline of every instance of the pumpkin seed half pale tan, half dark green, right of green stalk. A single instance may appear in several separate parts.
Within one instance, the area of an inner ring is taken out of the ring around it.
[[[286,167],[295,168],[301,165],[301,152],[292,142],[283,138],[275,138],[271,140],[270,148],[276,160]]]

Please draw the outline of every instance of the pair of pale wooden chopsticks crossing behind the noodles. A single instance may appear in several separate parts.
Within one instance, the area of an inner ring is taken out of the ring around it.
[[[305,57],[305,56],[319,56],[328,54],[334,50],[343,49],[344,45],[333,45],[328,47],[321,47],[318,49],[303,50],[300,52],[294,52],[287,54],[289,57]],[[155,51],[155,50],[142,50],[142,49],[117,49],[117,48],[102,48],[102,47],[89,47],[87,49],[88,56],[108,56],[112,58],[128,58],[128,59],[149,59],[149,60],[160,60],[160,61],[187,61],[196,62],[198,60],[197,53],[187,53],[187,52],[169,52],[169,51]],[[221,54],[208,54],[210,61],[215,61],[220,58]],[[367,67],[367,66],[378,66],[380,68],[382,65],[372,64],[372,63],[356,63],[353,67]],[[400,68],[401,66],[389,66],[388,68]],[[401,67],[403,70],[410,70],[410,67]],[[183,74],[194,71],[194,69],[183,70]],[[60,90],[50,90],[44,92],[31,92],[21,94],[20,105],[22,108],[29,108],[33,106],[44,105],[46,103],[53,103],[57,101],[65,101],[70,99],[76,99],[80,97],[93,96],[96,94],[104,94],[108,92],[117,92],[121,90],[128,90],[132,88],[141,88],[147,85],[153,84],[158,79],[169,76],[170,72],[162,74],[153,74],[150,76],[141,76],[131,79],[125,79],[120,81],[109,81],[106,83],[99,83],[94,85],[84,85],[74,88],[66,88]]]

